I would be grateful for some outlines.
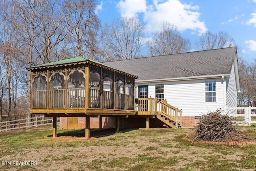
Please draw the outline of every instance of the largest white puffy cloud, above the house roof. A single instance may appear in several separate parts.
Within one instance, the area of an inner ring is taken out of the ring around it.
[[[179,31],[187,29],[197,31],[199,35],[205,33],[205,23],[199,20],[199,6],[182,4],[179,0],[167,0],[155,3],[154,8],[149,8],[145,13],[144,22],[149,30],[156,31],[162,22],[170,22],[177,26]]]

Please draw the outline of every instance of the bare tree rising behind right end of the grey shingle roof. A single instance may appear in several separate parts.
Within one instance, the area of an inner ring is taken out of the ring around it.
[[[227,32],[206,32],[197,42],[198,49],[209,50],[235,46],[234,39]]]

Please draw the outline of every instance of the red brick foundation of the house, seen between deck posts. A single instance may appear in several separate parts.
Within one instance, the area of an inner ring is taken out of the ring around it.
[[[166,125],[157,118],[150,118],[150,128],[163,128]],[[194,116],[182,116],[183,127],[196,127],[199,119],[195,119]],[[100,127],[100,118],[90,117],[90,128]],[[102,117],[102,128],[115,127],[115,117]],[[68,117],[61,117],[61,129],[68,129]],[[120,128],[145,128],[146,118],[138,117],[120,117]],[[85,117],[78,117],[78,129],[85,128]]]

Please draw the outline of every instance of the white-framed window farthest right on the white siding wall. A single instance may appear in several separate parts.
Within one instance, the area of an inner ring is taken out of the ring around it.
[[[205,82],[205,102],[216,102],[216,81]]]

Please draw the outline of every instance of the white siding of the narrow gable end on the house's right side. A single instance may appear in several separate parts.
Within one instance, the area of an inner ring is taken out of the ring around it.
[[[226,79],[226,105],[228,107],[237,107],[237,90],[234,65],[231,68],[230,77]],[[236,110],[231,110],[231,114],[236,114]]]

